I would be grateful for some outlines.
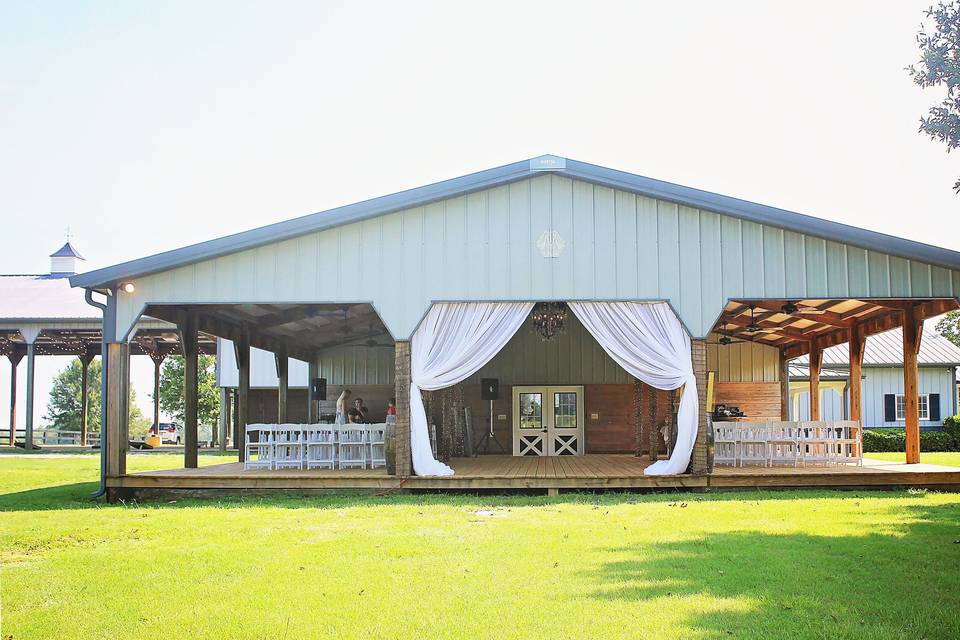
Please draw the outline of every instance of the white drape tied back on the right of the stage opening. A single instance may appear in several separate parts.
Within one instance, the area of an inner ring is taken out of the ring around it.
[[[697,437],[700,407],[693,375],[690,336],[665,302],[571,302],[570,308],[627,373],[657,389],[683,387],[677,410],[677,442],[669,460],[655,462],[646,475],[683,473]]]

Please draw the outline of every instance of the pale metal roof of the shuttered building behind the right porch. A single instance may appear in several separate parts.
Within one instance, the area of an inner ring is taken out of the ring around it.
[[[791,364],[806,369],[808,356],[800,356],[791,360]],[[953,344],[936,331],[924,330],[920,340],[920,353],[917,354],[917,364],[920,365],[960,365],[960,347]],[[824,349],[823,366],[848,367],[850,356],[848,344],[838,344],[835,347]],[[863,366],[884,367],[903,366],[903,332],[893,329],[878,333],[867,338],[863,350]],[[793,374],[791,374],[793,375]]]

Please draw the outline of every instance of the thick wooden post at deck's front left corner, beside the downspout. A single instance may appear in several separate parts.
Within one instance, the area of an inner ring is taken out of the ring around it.
[[[106,471],[108,478],[127,472],[130,403],[130,346],[125,342],[107,343],[107,397],[103,429],[106,432]]]

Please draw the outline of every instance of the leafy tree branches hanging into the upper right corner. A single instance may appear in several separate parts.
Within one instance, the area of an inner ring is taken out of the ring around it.
[[[947,95],[920,118],[920,132],[947,145],[960,146],[960,2],[940,2],[925,12],[932,25],[920,25],[920,61],[907,67],[921,87],[941,86]],[[953,185],[960,193],[960,180]]]

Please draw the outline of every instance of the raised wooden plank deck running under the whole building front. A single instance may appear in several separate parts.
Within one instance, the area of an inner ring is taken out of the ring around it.
[[[383,469],[245,471],[238,462],[108,478],[118,490],[322,489],[666,489],[918,486],[960,490],[960,468],[865,460],[862,467],[717,467],[712,475],[645,476],[649,462],[629,455],[455,458],[452,477],[388,476]]]

